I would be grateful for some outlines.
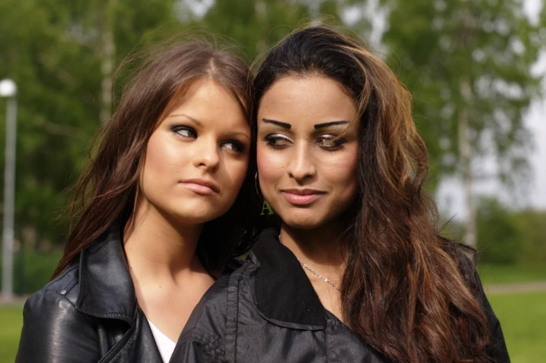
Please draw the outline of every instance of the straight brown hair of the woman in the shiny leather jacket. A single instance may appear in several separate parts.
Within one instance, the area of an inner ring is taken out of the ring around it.
[[[251,80],[249,69],[231,52],[203,40],[166,47],[149,57],[123,88],[116,113],[104,127],[98,152],[81,175],[70,208],[71,228],[65,253],[54,277],[74,263],[79,252],[98,239],[111,225],[123,226],[134,209],[143,155],[148,139],[169,108],[191,84],[206,77],[229,90],[247,114]],[[247,229],[243,207],[247,180],[234,206],[224,216],[205,223],[197,254],[205,268],[218,273],[235,252],[235,236]],[[246,241],[246,240],[245,240]],[[240,248],[246,249],[244,241]]]

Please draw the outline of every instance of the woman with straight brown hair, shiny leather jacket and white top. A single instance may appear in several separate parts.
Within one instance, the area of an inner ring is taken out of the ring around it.
[[[124,88],[77,185],[65,254],[25,304],[17,362],[169,361],[244,248],[248,72],[228,51],[185,42]]]

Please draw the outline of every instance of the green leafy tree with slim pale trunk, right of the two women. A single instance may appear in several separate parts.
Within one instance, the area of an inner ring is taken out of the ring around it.
[[[433,175],[465,184],[467,243],[476,241],[476,157],[497,158],[501,180],[524,181],[530,135],[523,116],[538,94],[541,47],[520,0],[385,0],[390,63],[414,93],[415,118]]]

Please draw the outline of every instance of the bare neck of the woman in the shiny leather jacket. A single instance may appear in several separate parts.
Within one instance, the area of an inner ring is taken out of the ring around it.
[[[137,197],[125,225],[123,244],[131,275],[140,284],[172,280],[185,271],[203,271],[195,250],[202,224],[183,225]]]

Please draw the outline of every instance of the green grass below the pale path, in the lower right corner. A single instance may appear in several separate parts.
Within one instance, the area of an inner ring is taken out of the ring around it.
[[[546,361],[546,292],[490,296],[512,363]]]

